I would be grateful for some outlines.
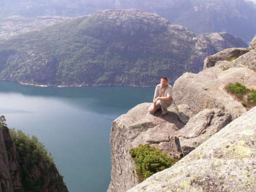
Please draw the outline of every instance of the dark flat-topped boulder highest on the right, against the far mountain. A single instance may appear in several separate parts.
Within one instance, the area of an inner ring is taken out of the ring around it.
[[[249,49],[246,48],[229,48],[229,49],[225,49],[223,51],[220,51],[214,55],[208,56],[206,57],[206,59],[204,60],[204,67],[203,69],[207,69],[210,67],[214,67],[216,62],[218,61],[224,61],[228,58],[235,58],[235,57],[239,57],[247,52],[249,52]]]

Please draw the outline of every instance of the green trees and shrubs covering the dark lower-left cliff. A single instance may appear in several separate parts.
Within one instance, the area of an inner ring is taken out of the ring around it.
[[[50,153],[48,154],[44,144],[40,143],[35,136],[30,138],[20,130],[9,129],[9,132],[19,154],[20,177],[24,191],[41,191],[42,186],[48,183],[48,179],[50,179],[48,187],[55,185],[55,188],[64,189],[66,186],[63,183],[63,177],[59,175],[53,157]],[[31,177],[31,172],[35,170],[39,170],[39,178]]]

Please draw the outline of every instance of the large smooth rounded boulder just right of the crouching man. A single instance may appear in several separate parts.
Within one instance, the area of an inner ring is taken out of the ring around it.
[[[230,82],[239,82],[247,88],[256,89],[256,73],[249,68],[223,71],[219,67],[211,67],[198,74],[185,73],[174,83],[173,106],[187,104],[194,114],[204,109],[218,108],[236,119],[246,109],[225,91],[224,87]]]

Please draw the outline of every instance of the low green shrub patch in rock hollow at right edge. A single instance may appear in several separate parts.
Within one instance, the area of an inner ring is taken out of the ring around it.
[[[248,89],[243,84],[236,82],[229,83],[225,89],[234,97],[236,97],[247,110],[256,106],[256,90]]]

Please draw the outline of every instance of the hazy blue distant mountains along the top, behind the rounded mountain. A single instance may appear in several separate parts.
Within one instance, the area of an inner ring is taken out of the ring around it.
[[[250,41],[256,33],[256,9],[251,1],[244,0],[12,0],[1,2],[3,17],[20,15],[36,17],[55,15],[77,17],[93,14],[102,9],[141,9],[157,13],[196,34],[226,31]]]

